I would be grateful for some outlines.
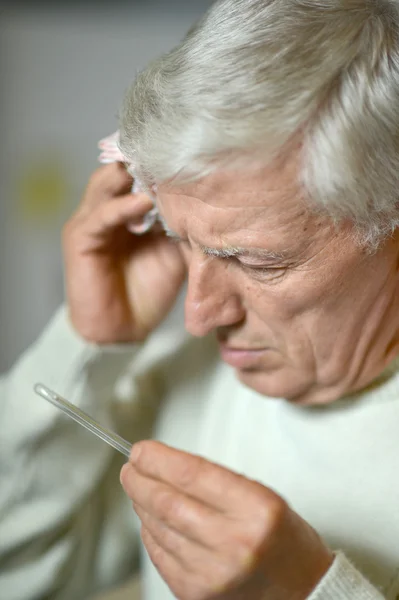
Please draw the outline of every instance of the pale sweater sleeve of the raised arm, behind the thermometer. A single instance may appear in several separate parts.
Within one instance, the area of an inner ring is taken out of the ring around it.
[[[62,308],[0,379],[2,597],[78,600],[132,574],[138,524],[119,484],[123,458],[33,386],[115,427],[117,381],[138,349],[85,343]]]

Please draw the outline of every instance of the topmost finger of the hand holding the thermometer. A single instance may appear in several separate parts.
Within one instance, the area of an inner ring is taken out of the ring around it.
[[[139,473],[163,481],[220,511],[242,513],[243,508],[254,509],[251,492],[257,500],[259,484],[199,456],[145,441],[133,447],[130,462]]]

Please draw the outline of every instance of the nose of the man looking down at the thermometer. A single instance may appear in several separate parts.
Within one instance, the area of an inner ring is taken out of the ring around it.
[[[185,325],[202,337],[218,327],[240,323],[245,310],[226,259],[191,255],[185,303]]]

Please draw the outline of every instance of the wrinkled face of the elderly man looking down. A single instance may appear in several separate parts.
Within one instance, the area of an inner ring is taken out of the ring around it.
[[[279,159],[161,186],[159,208],[188,265],[187,329],[216,331],[258,392],[327,403],[367,385],[398,353],[399,237],[367,252],[351,224],[312,214],[295,181],[295,160]],[[237,248],[243,255],[209,256]]]

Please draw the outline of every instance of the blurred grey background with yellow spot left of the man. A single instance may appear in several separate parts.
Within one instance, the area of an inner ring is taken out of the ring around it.
[[[62,225],[125,89],[210,4],[0,2],[0,372],[62,302]]]

